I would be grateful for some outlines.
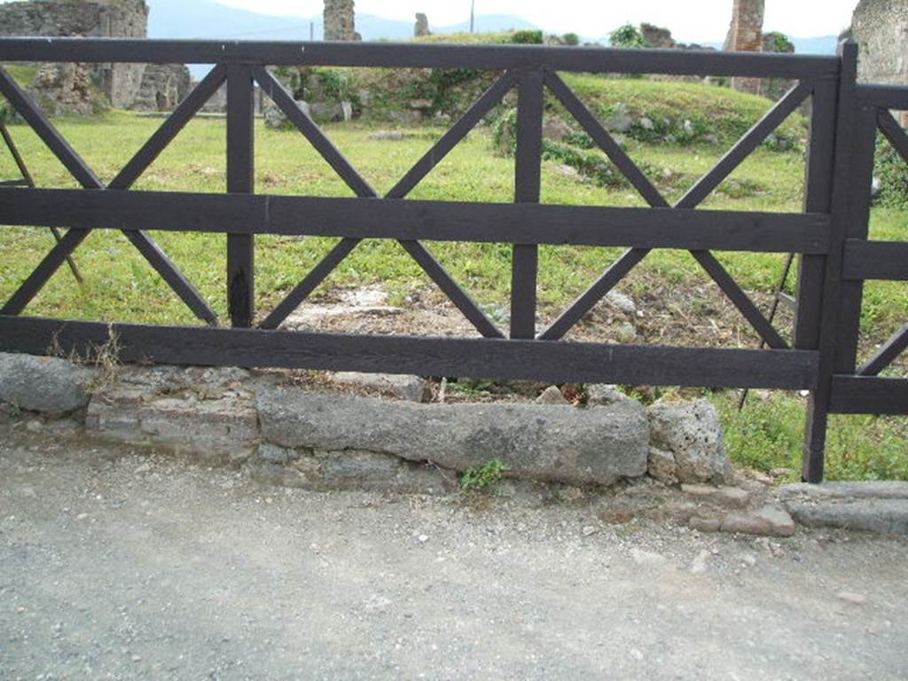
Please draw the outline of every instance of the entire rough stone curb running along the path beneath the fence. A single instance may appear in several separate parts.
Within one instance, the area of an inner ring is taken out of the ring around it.
[[[512,486],[598,489],[628,480],[618,498],[636,498],[657,515],[667,499],[681,515],[666,518],[703,531],[788,537],[794,517],[808,527],[908,534],[908,483],[789,485],[775,490],[773,503],[764,484],[735,479],[706,400],[646,410],[612,386],[590,386],[597,406],[587,408],[556,400],[555,387],[547,390],[551,404],[423,404],[419,377],[327,378],[397,399],[307,390],[281,375],[240,369],[120,367],[111,374],[0,353],[0,400],[54,418],[72,413],[99,439],[242,466],[271,484],[439,494],[458,487],[459,472],[501,459]],[[41,422],[27,426],[37,431]],[[734,484],[715,486],[723,481]],[[678,485],[674,497],[659,496]],[[622,503],[604,517],[625,517]]]

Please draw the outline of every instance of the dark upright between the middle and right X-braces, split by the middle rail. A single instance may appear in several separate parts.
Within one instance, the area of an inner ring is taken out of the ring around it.
[[[538,203],[542,163],[542,71],[527,69],[518,81],[514,200]],[[515,243],[511,259],[510,337],[536,338],[538,246]]]

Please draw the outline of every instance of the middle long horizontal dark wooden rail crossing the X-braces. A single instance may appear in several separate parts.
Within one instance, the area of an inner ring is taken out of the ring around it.
[[[0,188],[0,224],[824,253],[821,213]]]

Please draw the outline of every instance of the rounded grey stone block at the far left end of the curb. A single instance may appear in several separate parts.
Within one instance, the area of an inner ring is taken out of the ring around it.
[[[56,357],[0,353],[0,401],[61,414],[82,409],[96,371]]]

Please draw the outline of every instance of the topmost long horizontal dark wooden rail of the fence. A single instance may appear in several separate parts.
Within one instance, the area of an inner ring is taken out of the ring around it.
[[[548,66],[592,73],[807,78],[838,74],[834,56],[542,45],[289,43],[252,41],[4,38],[0,62],[311,64],[504,70]]]

